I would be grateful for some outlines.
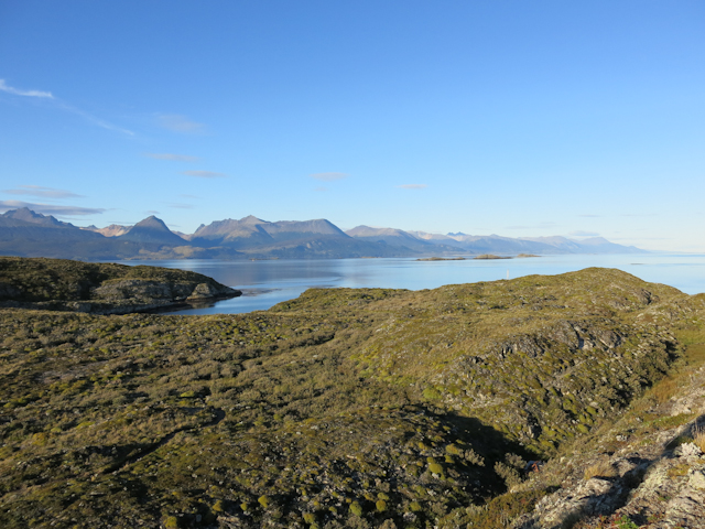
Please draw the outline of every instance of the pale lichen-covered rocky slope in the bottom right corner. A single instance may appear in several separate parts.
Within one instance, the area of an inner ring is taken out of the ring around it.
[[[510,527],[703,527],[705,368],[684,380],[666,402],[647,412],[637,407],[595,439],[594,446],[551,462],[521,485],[531,488],[564,474],[556,492]]]

